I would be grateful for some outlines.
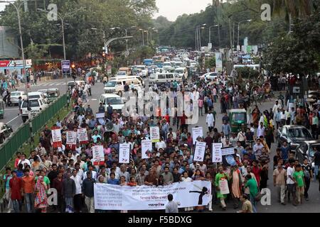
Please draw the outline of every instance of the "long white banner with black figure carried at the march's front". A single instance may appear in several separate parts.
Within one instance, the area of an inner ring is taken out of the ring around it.
[[[211,182],[196,180],[159,187],[94,184],[95,209],[99,210],[164,210],[168,204],[168,194],[174,196],[178,208],[207,206]]]

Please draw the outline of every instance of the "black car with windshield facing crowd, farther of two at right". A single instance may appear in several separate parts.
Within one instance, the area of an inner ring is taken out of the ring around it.
[[[282,126],[277,132],[278,146],[280,147],[286,141],[293,153],[302,142],[308,140],[314,140],[314,138],[304,126]]]

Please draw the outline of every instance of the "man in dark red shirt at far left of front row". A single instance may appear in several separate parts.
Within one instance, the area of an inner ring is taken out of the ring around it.
[[[11,200],[14,205],[14,213],[20,213],[21,211],[21,200],[22,200],[22,189],[23,182],[21,178],[16,176],[16,171],[12,171],[12,178],[9,182]]]

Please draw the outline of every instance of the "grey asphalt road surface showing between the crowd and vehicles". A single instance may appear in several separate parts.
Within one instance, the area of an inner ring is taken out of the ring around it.
[[[69,80],[69,79],[68,79]],[[60,94],[64,94],[66,91],[66,81],[67,79],[56,79],[52,80],[50,82],[39,82],[37,85],[31,86],[31,91],[37,91],[38,89],[46,89],[48,87],[58,87],[60,89]],[[146,87],[148,87],[148,82],[146,79]],[[103,93],[103,84],[102,83],[96,83],[95,86],[92,87],[92,96],[88,97],[88,103],[92,107],[92,110],[97,112],[97,108],[99,106],[98,99],[100,98],[100,95]],[[259,106],[260,111],[264,111],[266,109],[272,108],[274,104],[274,101],[265,101],[262,103],[262,105]],[[218,128],[218,131],[221,131],[221,125],[222,125],[222,117],[223,115],[220,114],[220,104],[215,103],[214,104],[215,111],[217,111],[217,119],[215,127]],[[14,128],[18,128],[18,126],[22,123],[21,117],[17,116],[18,109],[17,107],[9,107],[5,111],[5,118],[3,119],[4,122],[10,121],[10,125]],[[171,121],[172,122],[172,121]],[[203,127],[203,134],[206,135],[206,132],[208,131],[208,128],[206,126],[206,116],[199,116],[198,123],[189,126],[189,131],[191,131],[191,128],[195,126]],[[273,156],[275,155],[275,149],[277,145],[275,143],[272,144],[272,153],[270,154],[270,160],[273,160]],[[287,205],[281,205],[277,202],[277,194],[275,193],[276,190],[273,186],[273,179],[272,179],[272,164],[270,163],[269,166],[269,180],[268,180],[268,188],[271,191],[271,205],[270,206],[262,206],[261,204],[257,205],[257,211],[259,213],[315,213],[320,212],[320,206],[319,206],[319,199],[320,199],[320,193],[319,193],[319,182],[311,182],[311,186],[309,189],[309,201],[304,201],[304,204],[301,206],[293,206],[292,204]],[[230,201],[228,204],[227,211],[222,211],[219,206],[215,206],[213,209],[213,212],[227,212],[227,213],[235,213],[237,210],[233,209],[233,202]]]

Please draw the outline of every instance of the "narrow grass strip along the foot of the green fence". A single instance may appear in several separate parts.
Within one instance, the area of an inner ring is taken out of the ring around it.
[[[60,109],[60,111],[58,111],[57,114],[55,114],[55,116],[53,116],[53,118],[51,118],[49,121],[47,121],[46,124],[48,124],[49,128],[51,128],[55,122],[57,121],[57,118],[60,117],[60,119],[65,118],[65,116],[68,116],[68,114],[70,113],[70,111],[72,110],[70,108],[70,104],[68,104],[67,106],[63,107],[63,109]],[[44,126],[43,126],[44,128]],[[19,148],[17,151],[21,152],[21,153],[25,153],[26,156],[28,157],[31,153],[32,150],[34,150],[34,148],[36,148],[36,146],[38,145],[39,142],[39,137],[40,137],[40,132],[43,130],[43,128],[41,128],[40,131],[38,131],[37,133],[35,133],[33,135],[33,140],[29,139],[27,143],[24,143],[22,145],[21,148]],[[6,165],[6,167],[11,167],[12,170],[14,170],[14,160],[16,159],[16,155],[14,155],[13,157],[11,157],[11,160],[9,160],[8,164]],[[6,167],[4,167],[3,170],[1,170],[0,172],[0,187],[1,187],[1,191],[0,191],[0,203],[2,201],[2,198],[4,196],[5,193],[5,185],[4,185],[4,174],[6,172]]]

